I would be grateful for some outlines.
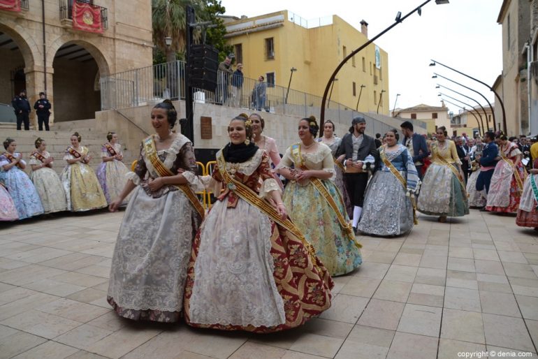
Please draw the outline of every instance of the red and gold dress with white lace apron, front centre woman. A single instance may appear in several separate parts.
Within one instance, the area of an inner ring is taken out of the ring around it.
[[[217,152],[208,186],[220,193],[221,183],[226,191],[192,246],[185,321],[202,328],[276,332],[328,309],[333,281],[327,270],[300,230],[263,200],[279,191],[263,150],[243,163],[227,163],[222,150]]]

